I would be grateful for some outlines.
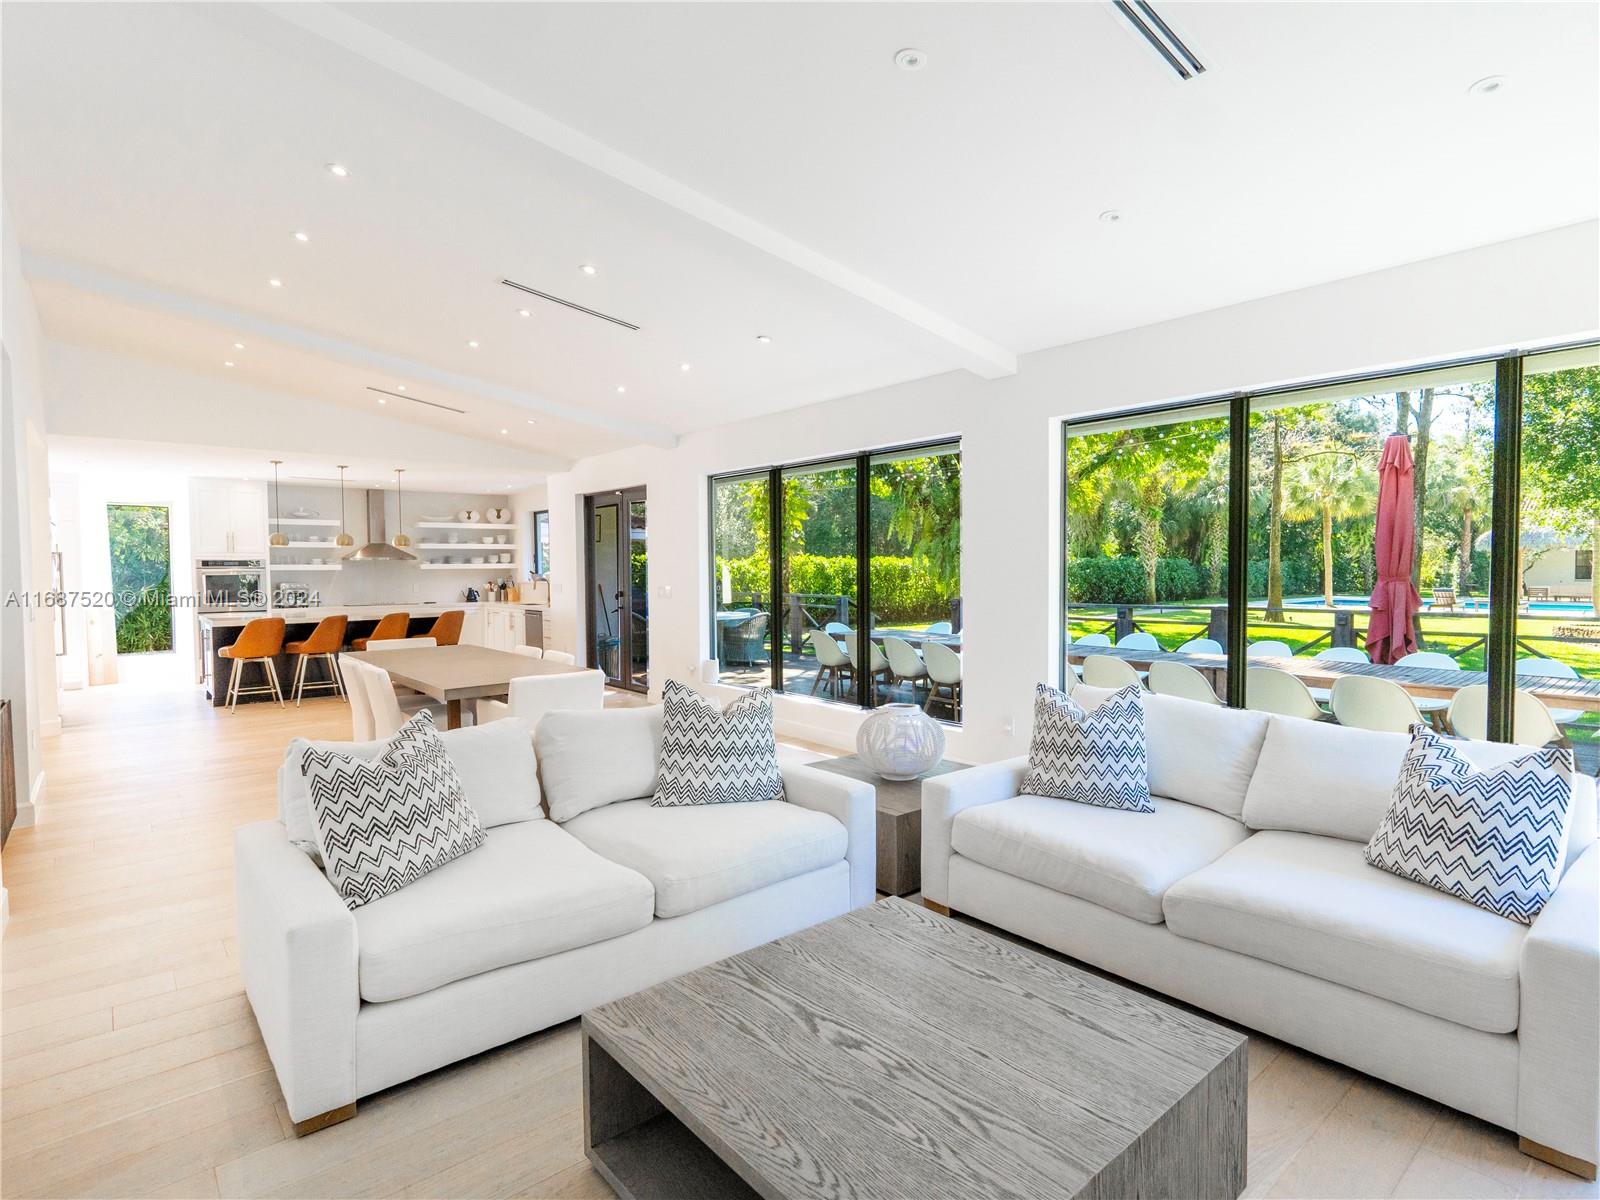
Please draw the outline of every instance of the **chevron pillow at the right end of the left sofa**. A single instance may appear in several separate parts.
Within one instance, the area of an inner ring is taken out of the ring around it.
[[[726,709],[667,680],[662,694],[656,808],[782,800],[773,690],[757,688]]]

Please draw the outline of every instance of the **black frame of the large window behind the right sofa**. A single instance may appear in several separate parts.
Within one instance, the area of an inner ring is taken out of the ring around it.
[[[1219,392],[1211,395],[1189,397],[1160,405],[1144,405],[1139,408],[1098,411],[1085,416],[1064,418],[1061,422],[1061,605],[1056,613],[1059,622],[1058,645],[1059,662],[1056,664],[1066,680],[1070,666],[1067,664],[1070,602],[1067,592],[1067,454],[1074,429],[1098,426],[1115,418],[1141,418],[1150,414],[1171,414],[1181,421],[1182,414],[1198,408],[1216,408],[1219,403],[1229,406],[1229,494],[1227,494],[1227,698],[1229,707],[1245,707],[1245,667],[1248,661],[1250,630],[1248,618],[1248,533],[1250,533],[1250,411],[1251,403],[1261,398],[1288,397],[1299,392],[1322,390],[1326,387],[1357,387],[1368,382],[1382,382],[1403,374],[1422,371],[1448,371],[1453,368],[1494,368],[1494,458],[1493,458],[1493,496],[1490,501],[1490,530],[1494,533],[1490,542],[1490,597],[1517,595],[1517,544],[1520,538],[1520,498],[1522,498],[1522,378],[1528,360],[1538,360],[1547,354],[1562,350],[1587,350],[1600,347],[1600,341],[1581,339],[1560,342],[1555,346],[1539,346],[1536,349],[1514,349],[1499,354],[1469,355],[1462,358],[1445,358],[1437,362],[1411,363],[1406,366],[1389,366],[1381,371],[1358,371],[1354,374],[1328,376],[1323,379],[1306,379],[1282,387],[1258,387],[1245,392]],[[1485,648],[1485,667],[1490,680],[1488,734],[1491,741],[1512,741],[1512,712],[1517,688],[1517,603],[1493,602],[1488,611],[1488,645]]]

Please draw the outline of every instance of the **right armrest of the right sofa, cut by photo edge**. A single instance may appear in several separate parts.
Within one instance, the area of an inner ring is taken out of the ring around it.
[[[1517,1133],[1600,1162],[1600,843],[1566,870],[1522,944]]]

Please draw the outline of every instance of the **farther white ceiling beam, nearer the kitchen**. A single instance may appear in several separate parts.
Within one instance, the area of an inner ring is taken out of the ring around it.
[[[296,350],[318,354],[334,362],[371,368],[381,378],[398,376],[402,379],[414,379],[416,382],[429,382],[435,387],[443,387],[461,395],[474,395],[480,400],[493,400],[494,403],[510,405],[530,414],[550,416],[578,426],[600,429],[606,434],[616,434],[618,437],[629,438],[630,442],[642,442],[653,446],[677,445],[677,435],[664,426],[656,426],[646,421],[632,421],[629,418],[611,416],[608,413],[597,413],[576,405],[566,405],[558,400],[546,400],[541,395],[523,392],[522,389],[509,387],[507,384],[499,384],[493,379],[480,379],[478,376],[461,374],[459,371],[445,371],[438,366],[429,366],[427,363],[403,358],[397,354],[374,350],[373,347],[362,346],[360,342],[331,338],[325,333],[317,333],[299,325],[277,322],[245,309],[218,304],[216,301],[208,301],[189,293],[170,291],[154,283],[144,283],[142,280],[115,275],[98,267],[83,266],[82,262],[67,262],[46,254],[24,251],[22,274],[42,283],[77,288],[78,291],[104,296],[147,312],[160,312],[182,320],[208,322],[237,333],[248,333],[253,338],[269,342],[290,346]],[[530,454],[533,453],[534,451],[530,451]],[[544,454],[542,458],[549,459],[549,464],[544,467],[547,470],[562,470],[571,464],[570,459],[563,459],[555,454]]]

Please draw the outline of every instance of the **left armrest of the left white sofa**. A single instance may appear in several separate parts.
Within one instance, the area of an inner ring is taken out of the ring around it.
[[[238,968],[296,1122],[355,1101],[355,917],[277,821],[234,830]]]

